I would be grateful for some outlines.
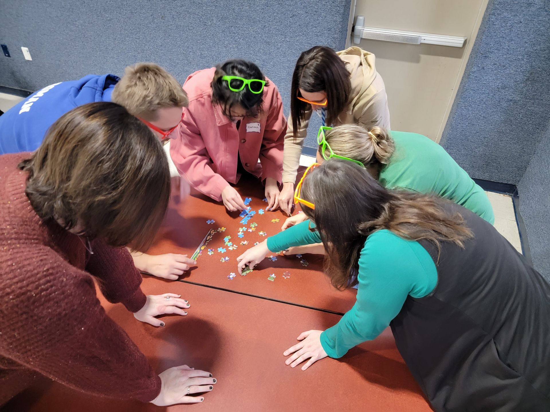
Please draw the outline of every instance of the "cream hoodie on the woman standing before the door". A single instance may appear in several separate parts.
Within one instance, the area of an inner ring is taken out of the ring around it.
[[[348,107],[338,115],[337,123],[357,123],[371,129],[374,126],[389,127],[388,97],[382,76],[375,68],[375,55],[360,47],[350,47],[337,52],[350,73],[351,93]],[[283,183],[296,180],[296,170],[300,165],[300,154],[311,118],[311,109],[305,113],[301,128],[294,139],[292,118],[288,116],[287,133],[284,136]]]

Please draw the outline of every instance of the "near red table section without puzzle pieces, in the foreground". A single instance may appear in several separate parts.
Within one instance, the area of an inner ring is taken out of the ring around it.
[[[183,282],[167,285],[152,277],[144,279],[142,288],[147,294],[182,294],[191,304],[189,315],[167,316],[166,326],[155,328],[135,320],[120,304],[104,299],[102,304],[155,370],[188,364],[212,372],[218,382],[204,403],[160,408],[87,396],[50,382],[22,393],[5,410],[430,410],[389,330],[341,360],[323,359],[302,371],[284,364],[283,351],[301,332],[325,329],[338,315]]]

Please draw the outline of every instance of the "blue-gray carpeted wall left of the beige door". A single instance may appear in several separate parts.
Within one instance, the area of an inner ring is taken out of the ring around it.
[[[35,91],[91,73],[122,75],[143,61],[183,83],[195,70],[244,58],[279,87],[288,114],[300,53],[316,44],[343,49],[349,8],[350,0],[2,0],[0,43],[12,57],[0,54],[0,86]]]

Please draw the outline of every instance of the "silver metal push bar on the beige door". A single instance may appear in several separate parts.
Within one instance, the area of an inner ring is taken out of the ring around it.
[[[417,33],[414,31],[378,29],[377,27],[364,27],[365,16],[357,16],[353,29],[353,42],[359,44],[361,38],[382,40],[388,42],[410,44],[438,44],[439,46],[463,47],[466,37],[434,35],[429,33]]]

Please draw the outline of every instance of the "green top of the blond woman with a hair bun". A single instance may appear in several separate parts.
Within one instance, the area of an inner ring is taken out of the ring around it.
[[[395,152],[380,170],[378,181],[382,186],[437,194],[494,224],[487,195],[445,149],[417,133],[392,131],[390,136]]]

